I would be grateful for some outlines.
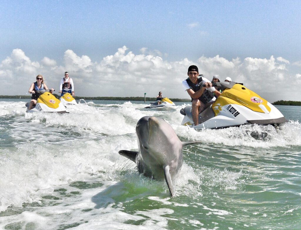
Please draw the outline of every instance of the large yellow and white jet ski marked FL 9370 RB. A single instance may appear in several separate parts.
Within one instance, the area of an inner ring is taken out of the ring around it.
[[[278,126],[287,122],[281,112],[258,94],[247,89],[243,84],[217,82],[222,94],[216,101],[199,114],[199,124],[194,126],[191,106],[182,108],[184,115],[182,125],[196,130],[240,126],[243,124],[260,124]]]

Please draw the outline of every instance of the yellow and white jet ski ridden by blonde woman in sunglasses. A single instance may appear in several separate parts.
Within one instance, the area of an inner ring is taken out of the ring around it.
[[[66,107],[51,94],[51,90],[38,90],[37,93],[40,96],[38,97],[36,106],[28,110],[29,102],[26,103],[26,112],[66,112]]]

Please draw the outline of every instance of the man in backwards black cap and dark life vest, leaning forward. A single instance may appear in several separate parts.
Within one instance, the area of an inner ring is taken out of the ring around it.
[[[188,78],[182,81],[182,85],[191,97],[192,119],[194,125],[198,125],[199,113],[209,107],[216,99],[213,93],[216,97],[221,95],[221,93],[212,87],[211,82],[207,78],[204,78],[203,75],[198,78],[199,69],[197,66],[189,66],[187,75]]]

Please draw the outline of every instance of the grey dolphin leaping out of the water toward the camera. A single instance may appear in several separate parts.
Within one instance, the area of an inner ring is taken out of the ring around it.
[[[171,196],[175,195],[172,180],[183,163],[184,146],[200,142],[182,142],[163,119],[144,116],[136,125],[139,151],[120,150],[118,153],[137,164],[139,173],[152,179],[163,179]]]

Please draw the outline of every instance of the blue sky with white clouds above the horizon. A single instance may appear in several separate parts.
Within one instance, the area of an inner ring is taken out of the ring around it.
[[[36,75],[82,97],[190,98],[190,65],[269,102],[301,101],[301,1],[0,2],[0,95]]]

